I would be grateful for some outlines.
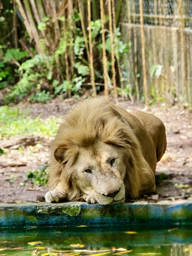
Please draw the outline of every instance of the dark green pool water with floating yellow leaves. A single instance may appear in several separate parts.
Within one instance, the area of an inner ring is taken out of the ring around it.
[[[125,233],[127,232],[127,233]],[[29,245],[39,242],[38,245]],[[41,243],[40,243],[41,242]],[[112,251],[112,247],[129,252]],[[0,255],[192,255],[192,226],[2,228]],[[90,250],[76,251],[74,250]],[[109,250],[109,251],[105,251]],[[59,252],[63,251],[63,252]],[[102,254],[101,254],[102,253]],[[104,254],[106,253],[106,254]],[[118,253],[118,254],[115,254]]]

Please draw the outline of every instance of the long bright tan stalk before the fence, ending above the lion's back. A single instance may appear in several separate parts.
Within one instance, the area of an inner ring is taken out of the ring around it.
[[[149,106],[149,99],[147,93],[147,76],[146,76],[146,59],[145,59],[145,35],[143,27],[143,2],[139,0],[140,9],[140,27],[141,27],[141,48],[142,48],[142,63],[143,63],[143,89],[145,94],[145,104]]]

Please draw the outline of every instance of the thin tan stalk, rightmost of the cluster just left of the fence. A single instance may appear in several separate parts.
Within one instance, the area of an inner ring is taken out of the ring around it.
[[[113,35],[114,35],[114,41],[115,41],[115,48],[116,48],[116,53],[115,53],[115,57],[117,60],[117,68],[118,68],[118,73],[119,73],[119,77],[120,77],[120,84],[121,84],[121,90],[122,90],[122,100],[124,100],[124,95],[123,95],[123,75],[122,75],[122,71],[121,71],[121,65],[120,65],[120,61],[119,61],[119,53],[118,53],[118,44],[117,44],[117,36],[116,36],[116,15],[115,15],[115,2],[114,0],[111,1],[112,2],[112,15],[113,15]]]

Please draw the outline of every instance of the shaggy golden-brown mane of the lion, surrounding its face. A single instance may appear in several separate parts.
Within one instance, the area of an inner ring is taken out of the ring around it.
[[[100,97],[78,102],[62,120],[58,133],[50,146],[50,173],[47,187],[54,189],[62,182],[68,200],[79,197],[79,188],[72,180],[70,167],[78,155],[79,147],[94,145],[95,140],[124,148],[126,175],[124,179],[128,197],[137,198],[141,180],[145,176],[140,169],[142,153],[140,143],[126,119],[118,112],[115,104]],[[60,156],[58,162],[54,155]]]

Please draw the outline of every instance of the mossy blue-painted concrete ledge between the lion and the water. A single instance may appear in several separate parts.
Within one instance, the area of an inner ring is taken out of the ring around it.
[[[192,200],[0,204],[0,227],[192,223]]]

